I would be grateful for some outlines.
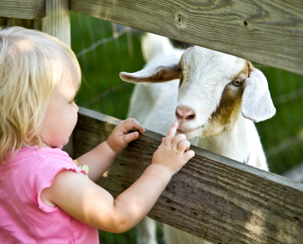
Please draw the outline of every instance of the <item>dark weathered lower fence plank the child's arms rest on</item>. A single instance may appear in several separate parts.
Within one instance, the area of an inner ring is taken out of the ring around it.
[[[75,157],[107,139],[118,119],[80,108]],[[113,196],[151,163],[162,136],[146,131],[97,182]],[[303,184],[192,146],[149,216],[214,244],[302,244]]]

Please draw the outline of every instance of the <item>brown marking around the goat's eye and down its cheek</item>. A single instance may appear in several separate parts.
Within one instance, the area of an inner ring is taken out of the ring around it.
[[[245,61],[245,67],[236,75],[232,81],[249,77],[252,65]],[[241,113],[241,101],[243,95],[243,83],[240,86],[228,84],[225,86],[221,101],[206,124],[202,136],[213,137],[231,129]]]

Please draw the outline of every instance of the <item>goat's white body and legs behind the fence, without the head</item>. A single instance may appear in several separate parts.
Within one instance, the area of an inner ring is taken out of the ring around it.
[[[161,45],[163,40],[159,38],[157,40],[158,45]],[[183,52],[183,50],[166,48],[165,53],[162,49],[162,53],[154,54],[151,57],[151,48],[150,45],[144,46],[143,43],[143,53],[146,51],[144,49],[149,50],[147,56],[151,58],[151,60],[148,60],[147,66],[158,61],[179,58]],[[131,97],[128,116],[135,118],[143,127],[166,135],[175,116],[178,102],[178,84],[178,80],[150,85],[136,84]],[[255,124],[245,119],[242,114],[239,114],[238,120],[232,128],[217,136],[199,138],[198,140],[192,139],[191,143],[241,163],[248,163],[260,169],[268,170]],[[137,241],[138,244],[156,243],[155,235],[151,233],[154,229],[155,224],[153,222],[145,221],[145,227],[139,227],[141,233]],[[167,244],[208,244],[202,239],[168,225],[164,226],[164,237]]]

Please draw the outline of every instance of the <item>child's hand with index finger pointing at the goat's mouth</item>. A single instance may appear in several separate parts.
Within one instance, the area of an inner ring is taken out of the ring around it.
[[[152,157],[152,163],[166,167],[172,175],[195,156],[193,150],[188,150],[191,143],[186,141],[184,134],[178,134],[174,137],[177,127],[178,123],[174,122],[167,136],[162,138],[162,143]]]

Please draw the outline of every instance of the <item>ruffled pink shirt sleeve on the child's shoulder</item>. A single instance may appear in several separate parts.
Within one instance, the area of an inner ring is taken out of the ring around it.
[[[61,157],[60,155],[50,155],[42,162],[38,163],[32,170],[29,177],[29,186],[32,197],[38,203],[39,208],[44,212],[53,212],[57,207],[51,207],[41,201],[41,192],[49,187],[55,176],[63,170],[72,170],[76,173],[82,172],[87,175],[84,169],[73,163],[71,158]]]

